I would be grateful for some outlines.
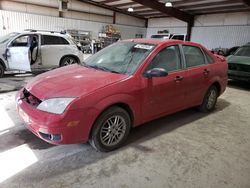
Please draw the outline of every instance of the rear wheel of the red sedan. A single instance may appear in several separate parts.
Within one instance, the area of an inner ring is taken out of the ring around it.
[[[217,98],[219,96],[218,88],[215,85],[212,85],[206,95],[204,96],[202,104],[199,106],[201,112],[211,112],[214,110]]]

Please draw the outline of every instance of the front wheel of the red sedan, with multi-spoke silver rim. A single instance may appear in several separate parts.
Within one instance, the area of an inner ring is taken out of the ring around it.
[[[124,144],[130,128],[128,112],[120,107],[111,107],[97,118],[89,142],[97,151],[112,151]]]

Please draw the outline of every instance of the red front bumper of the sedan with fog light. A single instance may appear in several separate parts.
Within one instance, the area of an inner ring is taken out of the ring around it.
[[[83,124],[84,112],[69,110],[60,115],[43,112],[23,100],[21,91],[16,96],[17,110],[32,133],[56,145],[87,142],[88,126]]]

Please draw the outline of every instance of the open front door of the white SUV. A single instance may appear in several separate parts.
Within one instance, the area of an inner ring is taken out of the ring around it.
[[[30,69],[30,35],[14,39],[7,47],[6,56],[9,69],[31,71]]]

